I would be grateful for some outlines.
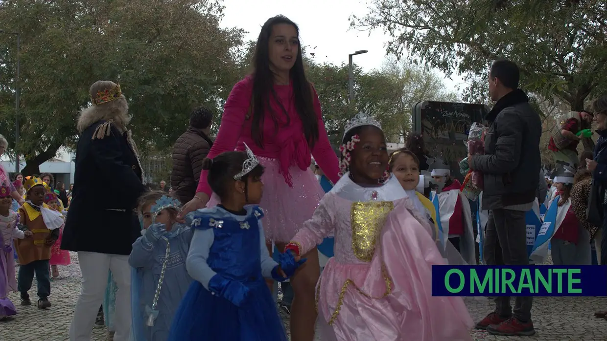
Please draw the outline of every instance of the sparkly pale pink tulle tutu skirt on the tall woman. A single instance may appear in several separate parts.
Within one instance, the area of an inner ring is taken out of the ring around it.
[[[291,166],[289,173],[293,188],[280,174],[277,159],[257,157],[265,167],[263,172],[263,197],[259,206],[263,208],[263,232],[267,241],[288,243],[304,222],[312,217],[320,199],[325,195],[314,172],[307,168]],[[207,207],[219,204],[219,197],[213,194]]]

